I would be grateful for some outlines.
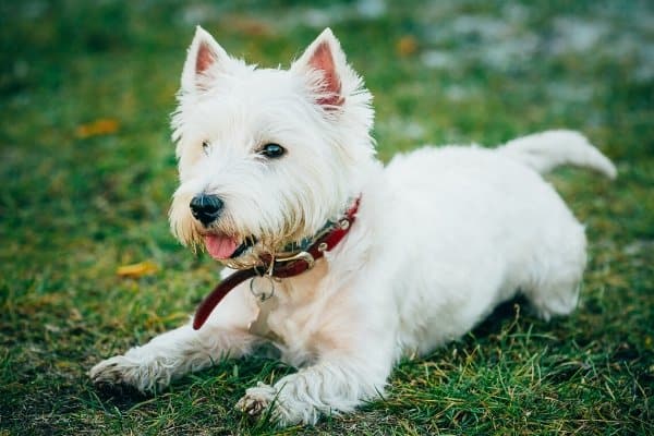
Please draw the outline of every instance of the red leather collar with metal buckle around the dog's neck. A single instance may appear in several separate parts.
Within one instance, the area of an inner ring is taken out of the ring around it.
[[[264,274],[284,279],[299,276],[313,268],[314,263],[323,257],[325,252],[328,252],[338,245],[346,234],[348,234],[350,228],[354,223],[360,201],[361,197],[358,197],[352,207],[350,207],[346,215],[338,220],[335,227],[326,234],[318,238],[318,240],[316,240],[306,251],[286,258],[277,258],[275,259],[272,267],[270,267],[269,256],[262,257],[262,265],[259,267],[241,269],[231,276],[228,276],[218,283],[211,293],[209,293],[204,301],[199,303],[199,306],[197,306],[195,317],[193,318],[193,329],[199,329],[225,295],[245,280]]]

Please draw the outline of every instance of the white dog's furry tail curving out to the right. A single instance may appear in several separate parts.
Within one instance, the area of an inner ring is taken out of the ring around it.
[[[571,130],[550,130],[519,137],[497,148],[497,152],[540,173],[560,165],[590,168],[609,179],[615,179],[618,173],[615,165],[585,136]]]

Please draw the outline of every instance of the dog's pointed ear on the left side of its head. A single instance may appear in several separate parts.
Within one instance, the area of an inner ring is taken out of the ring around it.
[[[215,68],[227,66],[229,61],[229,55],[216,43],[216,39],[204,28],[197,26],[182,71],[182,90],[187,93],[204,90],[210,71]]]

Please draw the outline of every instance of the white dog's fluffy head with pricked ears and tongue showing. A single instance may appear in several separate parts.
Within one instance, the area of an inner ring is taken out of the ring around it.
[[[231,265],[316,233],[373,160],[371,95],[324,31],[289,70],[230,57],[197,27],[173,114],[171,229]]]

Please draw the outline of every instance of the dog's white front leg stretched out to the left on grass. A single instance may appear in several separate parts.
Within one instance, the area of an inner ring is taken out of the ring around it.
[[[88,375],[98,385],[128,385],[145,392],[165,388],[223,358],[250,353],[259,339],[243,324],[251,314],[238,291],[226,298],[199,330],[189,324],[159,335],[143,347],[98,363]]]

